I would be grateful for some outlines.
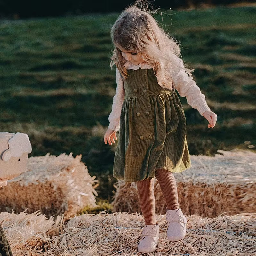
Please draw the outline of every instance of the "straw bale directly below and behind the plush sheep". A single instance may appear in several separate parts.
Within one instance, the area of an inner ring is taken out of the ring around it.
[[[28,158],[28,172],[0,188],[0,211],[28,213],[40,210],[47,217],[73,217],[85,206],[95,207],[98,180],[91,177],[81,155],[37,156]]]

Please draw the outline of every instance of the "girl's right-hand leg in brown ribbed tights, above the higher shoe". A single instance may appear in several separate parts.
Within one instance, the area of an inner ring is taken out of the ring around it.
[[[168,210],[179,209],[176,180],[172,172],[165,169],[157,169],[155,177],[159,182]]]

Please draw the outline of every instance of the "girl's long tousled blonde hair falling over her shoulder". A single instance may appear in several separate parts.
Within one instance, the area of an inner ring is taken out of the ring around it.
[[[142,3],[142,7],[138,7]],[[163,88],[170,87],[172,77],[182,68],[190,76],[194,69],[185,68],[179,58],[180,45],[159,27],[150,15],[147,4],[142,0],[126,8],[111,28],[111,38],[114,44],[110,67],[116,65],[121,76],[128,77],[124,66],[125,59],[118,46],[128,51],[142,53],[142,58],[153,64],[157,81]],[[180,65],[181,62],[183,65]],[[183,66],[183,67],[182,67]]]

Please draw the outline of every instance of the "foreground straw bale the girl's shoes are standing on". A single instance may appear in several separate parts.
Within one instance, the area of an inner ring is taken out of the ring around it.
[[[255,213],[212,219],[188,216],[186,237],[173,243],[167,239],[165,215],[157,215],[160,237],[154,255],[255,255],[255,217]],[[51,238],[47,250],[52,256],[142,255],[137,242],[143,227],[138,213],[77,216],[68,221],[62,235]]]

